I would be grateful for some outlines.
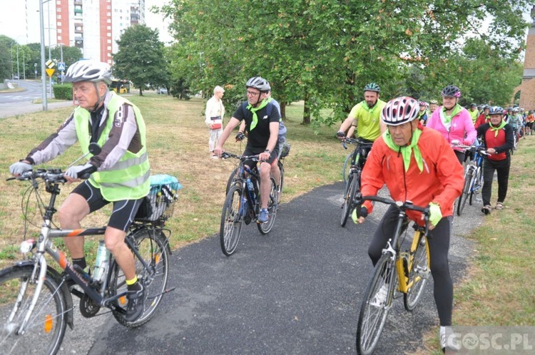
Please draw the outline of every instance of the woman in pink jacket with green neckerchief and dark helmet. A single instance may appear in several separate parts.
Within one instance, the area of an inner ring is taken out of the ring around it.
[[[427,120],[427,127],[438,130],[450,145],[472,145],[477,133],[468,110],[459,105],[461,91],[457,86],[449,85],[442,90],[442,106],[434,111]],[[453,144],[452,144],[453,143]],[[464,149],[453,146],[459,163],[464,162]]]

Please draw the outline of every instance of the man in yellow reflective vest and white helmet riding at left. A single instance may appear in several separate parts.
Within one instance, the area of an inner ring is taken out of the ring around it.
[[[108,91],[111,68],[106,63],[81,60],[68,68],[63,81],[73,83],[78,101],[69,118],[56,133],[18,163],[10,173],[18,176],[33,165],[46,163],[63,153],[76,142],[83,153],[89,153],[90,143],[97,143],[101,153],[88,156],[88,163],[66,170],[68,183],[88,180],[74,188],[58,210],[58,220],[64,230],[80,229],[80,222],[89,213],[113,202],[108,226],[104,234],[106,248],[123,270],[128,291],[126,321],[136,321],[143,314],[145,286],[137,279],[133,254],[124,239],[143,197],[150,188],[146,150],[146,128],[140,110],[125,98]],[[86,258],[83,237],[65,238],[65,245],[73,258],[73,268],[85,272]],[[68,279],[67,283],[72,284]]]

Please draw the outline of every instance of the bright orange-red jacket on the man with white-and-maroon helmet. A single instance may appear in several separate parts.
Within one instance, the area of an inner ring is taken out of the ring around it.
[[[431,128],[422,127],[418,148],[422,153],[423,171],[420,172],[411,154],[409,169],[405,171],[402,154],[389,148],[381,135],[373,145],[362,170],[362,195],[377,195],[387,185],[390,196],[397,201],[412,201],[414,205],[427,206],[429,202],[440,206],[442,216],[453,213],[454,200],[462,193],[464,169],[459,164],[452,147],[442,135]],[[372,212],[372,204],[364,205]],[[407,211],[407,216],[424,225],[422,213]]]

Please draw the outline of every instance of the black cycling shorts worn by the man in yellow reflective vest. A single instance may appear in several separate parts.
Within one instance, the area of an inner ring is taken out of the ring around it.
[[[89,205],[89,212],[95,212],[102,207],[108,205],[110,201],[104,199],[101,190],[91,185],[88,180],[81,182],[76,186],[71,193],[81,195],[86,199]],[[141,205],[143,198],[139,200],[121,200],[113,202],[113,210],[111,211],[108,227],[113,227],[118,230],[126,232],[128,227],[132,224],[136,212],[138,212],[139,205]]]

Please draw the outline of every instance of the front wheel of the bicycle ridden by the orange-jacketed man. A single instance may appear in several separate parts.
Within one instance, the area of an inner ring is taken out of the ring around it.
[[[389,292],[381,307],[376,307],[371,303],[379,289],[389,283]],[[384,324],[387,321],[390,305],[392,304],[392,294],[396,287],[396,269],[390,254],[383,254],[377,264],[370,284],[366,289],[360,307],[359,321],[357,324],[357,354],[372,354],[379,337],[381,336]]]

